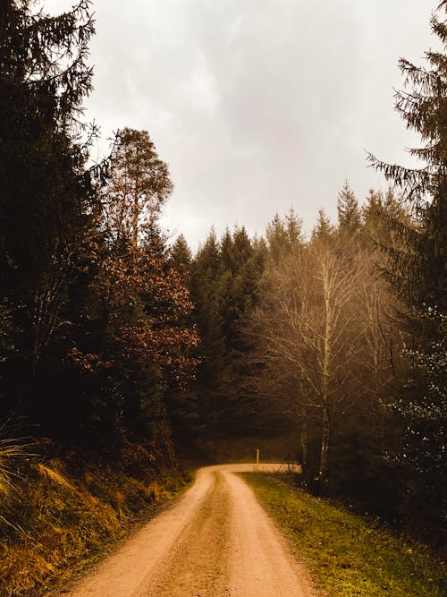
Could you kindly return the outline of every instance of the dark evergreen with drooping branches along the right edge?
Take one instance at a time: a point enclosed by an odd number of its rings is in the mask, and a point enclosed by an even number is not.
[[[401,189],[411,219],[390,220],[399,247],[384,245],[387,277],[408,307],[409,374],[401,399],[394,407],[401,413],[406,434],[401,463],[410,472],[409,509],[413,523],[419,520],[435,536],[443,516],[447,471],[445,468],[446,403],[436,371],[443,368],[440,347],[445,344],[446,229],[447,221],[447,2],[439,4],[431,20],[442,50],[426,52],[428,68],[401,59],[401,72],[409,91],[396,92],[396,109],[424,146],[410,149],[422,162],[418,168],[389,165],[372,155],[376,169]],[[434,314],[436,317],[434,317]],[[434,320],[437,325],[434,325]],[[443,388],[445,389],[445,388]],[[410,457],[409,457],[410,455]],[[440,458],[440,455],[441,458]],[[440,466],[440,462],[442,465]],[[425,505],[422,519],[421,504]]]

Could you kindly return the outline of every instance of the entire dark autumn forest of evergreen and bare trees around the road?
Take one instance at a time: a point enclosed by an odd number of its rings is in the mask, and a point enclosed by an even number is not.
[[[161,225],[173,180],[149,132],[123,125],[92,165],[89,1],[1,3],[4,536],[29,453],[175,465],[283,437],[308,491],[445,549],[446,6],[443,51],[400,62],[416,169],[369,154],[388,190],[347,181],[335,224],[321,209],[305,235],[297,198],[263,235],[211,229],[192,252]]]

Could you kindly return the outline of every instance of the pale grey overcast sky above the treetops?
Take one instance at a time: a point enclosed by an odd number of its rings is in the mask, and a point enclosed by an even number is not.
[[[46,0],[52,13],[72,3]],[[398,59],[435,45],[431,0],[95,0],[87,116],[145,129],[175,184],[164,220],[195,248],[214,224],[262,234],[291,206],[309,229],[385,189],[365,149],[409,164]]]

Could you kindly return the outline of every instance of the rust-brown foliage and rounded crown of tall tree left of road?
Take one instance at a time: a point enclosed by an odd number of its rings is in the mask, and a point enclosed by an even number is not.
[[[167,166],[147,132],[123,129],[111,160],[93,244],[95,273],[90,283],[95,313],[102,322],[105,350],[124,374],[155,364],[165,381],[181,387],[194,374],[190,353],[198,334],[188,324],[190,294],[179,273],[167,265],[158,217],[172,191]],[[72,361],[93,371],[95,354],[72,352]],[[97,358],[97,360],[96,360]]]

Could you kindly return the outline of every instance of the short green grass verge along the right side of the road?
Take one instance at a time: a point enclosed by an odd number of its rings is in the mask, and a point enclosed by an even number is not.
[[[331,597],[443,597],[445,567],[416,543],[374,521],[292,487],[290,475],[243,473],[304,562]]]

